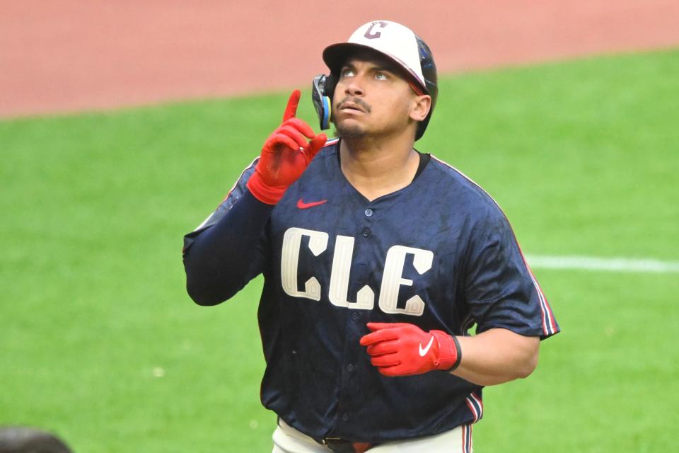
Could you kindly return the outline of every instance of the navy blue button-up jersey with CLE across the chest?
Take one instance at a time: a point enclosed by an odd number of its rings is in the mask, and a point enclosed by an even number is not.
[[[344,177],[338,153],[337,140],[328,142],[275,207],[250,195],[256,161],[248,167],[185,238],[192,297],[218,303],[264,274],[262,403],[311,437],[385,442],[474,423],[480,386],[443,371],[385,377],[359,338],[368,321],[457,336],[473,324],[477,333],[557,333],[506,217],[434,157],[410,185],[370,202]],[[226,270],[204,279],[199,262],[220,253]]]

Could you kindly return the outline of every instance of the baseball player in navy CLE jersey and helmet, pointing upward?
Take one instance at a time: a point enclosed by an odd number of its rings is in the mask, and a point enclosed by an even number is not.
[[[323,59],[317,108],[337,137],[296,118],[294,91],[185,236],[187,291],[219,304],[264,275],[274,452],[470,452],[483,386],[527,377],[559,326],[497,204],[413,148],[438,94],[424,41],[373,21]]]

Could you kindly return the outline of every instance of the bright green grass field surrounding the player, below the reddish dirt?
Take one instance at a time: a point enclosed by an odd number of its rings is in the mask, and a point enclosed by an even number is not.
[[[679,260],[677,74],[673,50],[447,77],[417,147],[486,188],[526,253]],[[271,451],[261,280],[199,307],[180,251],[287,96],[0,122],[0,425],[79,453]],[[564,331],[487,389],[476,451],[672,451],[679,275],[535,273]]]

